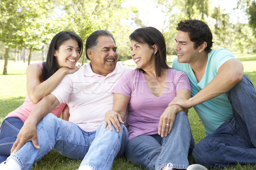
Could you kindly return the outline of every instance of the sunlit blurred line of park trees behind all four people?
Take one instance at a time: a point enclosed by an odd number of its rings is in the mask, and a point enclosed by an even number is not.
[[[140,19],[139,9],[134,6],[125,6],[126,1],[1,0],[0,59],[4,56],[3,74],[7,74],[9,58],[16,59],[17,54],[23,51],[21,56],[24,61],[27,59],[29,64],[32,54],[36,51],[47,51],[52,37],[64,30],[76,32],[84,43],[87,37],[97,29],[111,31],[118,46],[118,60],[130,59],[128,37],[134,31],[134,26],[140,28],[147,24]],[[214,48],[236,49],[241,53],[256,50],[255,0],[235,1],[237,7],[233,10],[244,12],[244,16],[239,17],[235,22],[230,20],[231,14],[225,12],[220,6],[212,5],[211,0],[150,1],[157,3],[157,7],[161,8],[165,17],[163,26],[158,29],[166,38],[167,54],[175,54],[174,39],[177,23],[188,18],[208,23],[215,42]],[[85,52],[79,62],[81,65],[87,62]]]

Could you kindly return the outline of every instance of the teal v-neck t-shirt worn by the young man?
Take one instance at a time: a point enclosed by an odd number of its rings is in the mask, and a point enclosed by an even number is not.
[[[199,83],[188,63],[179,63],[176,57],[173,60],[172,68],[186,73],[191,85],[191,96],[195,96],[217,75],[220,66],[229,59],[235,59],[235,57],[227,49],[217,49],[209,52],[204,76]],[[214,132],[222,123],[233,116],[232,107],[225,93],[196,105],[194,109],[204,124],[206,136]]]

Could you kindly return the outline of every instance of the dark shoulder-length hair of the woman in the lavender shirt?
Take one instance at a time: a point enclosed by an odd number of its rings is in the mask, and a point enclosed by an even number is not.
[[[155,68],[157,76],[161,76],[162,68],[170,68],[166,61],[166,43],[163,34],[154,27],[138,28],[130,35],[130,40],[134,40],[139,43],[147,44],[149,48],[154,44],[157,45],[158,50],[155,57]],[[153,54],[151,55],[150,61],[153,60]],[[142,70],[142,69],[140,69]]]

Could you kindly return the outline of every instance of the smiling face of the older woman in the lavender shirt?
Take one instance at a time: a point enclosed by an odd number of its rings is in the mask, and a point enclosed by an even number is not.
[[[155,51],[156,52],[156,51]],[[131,41],[131,57],[137,65],[137,68],[143,70],[154,67],[154,57],[150,61],[154,49],[150,48],[147,44]]]

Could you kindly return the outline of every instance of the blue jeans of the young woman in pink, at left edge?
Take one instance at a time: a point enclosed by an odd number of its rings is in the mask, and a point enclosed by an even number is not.
[[[3,120],[0,129],[0,163],[6,161],[10,156],[12,145],[16,141],[23,124],[20,118],[15,116]]]

